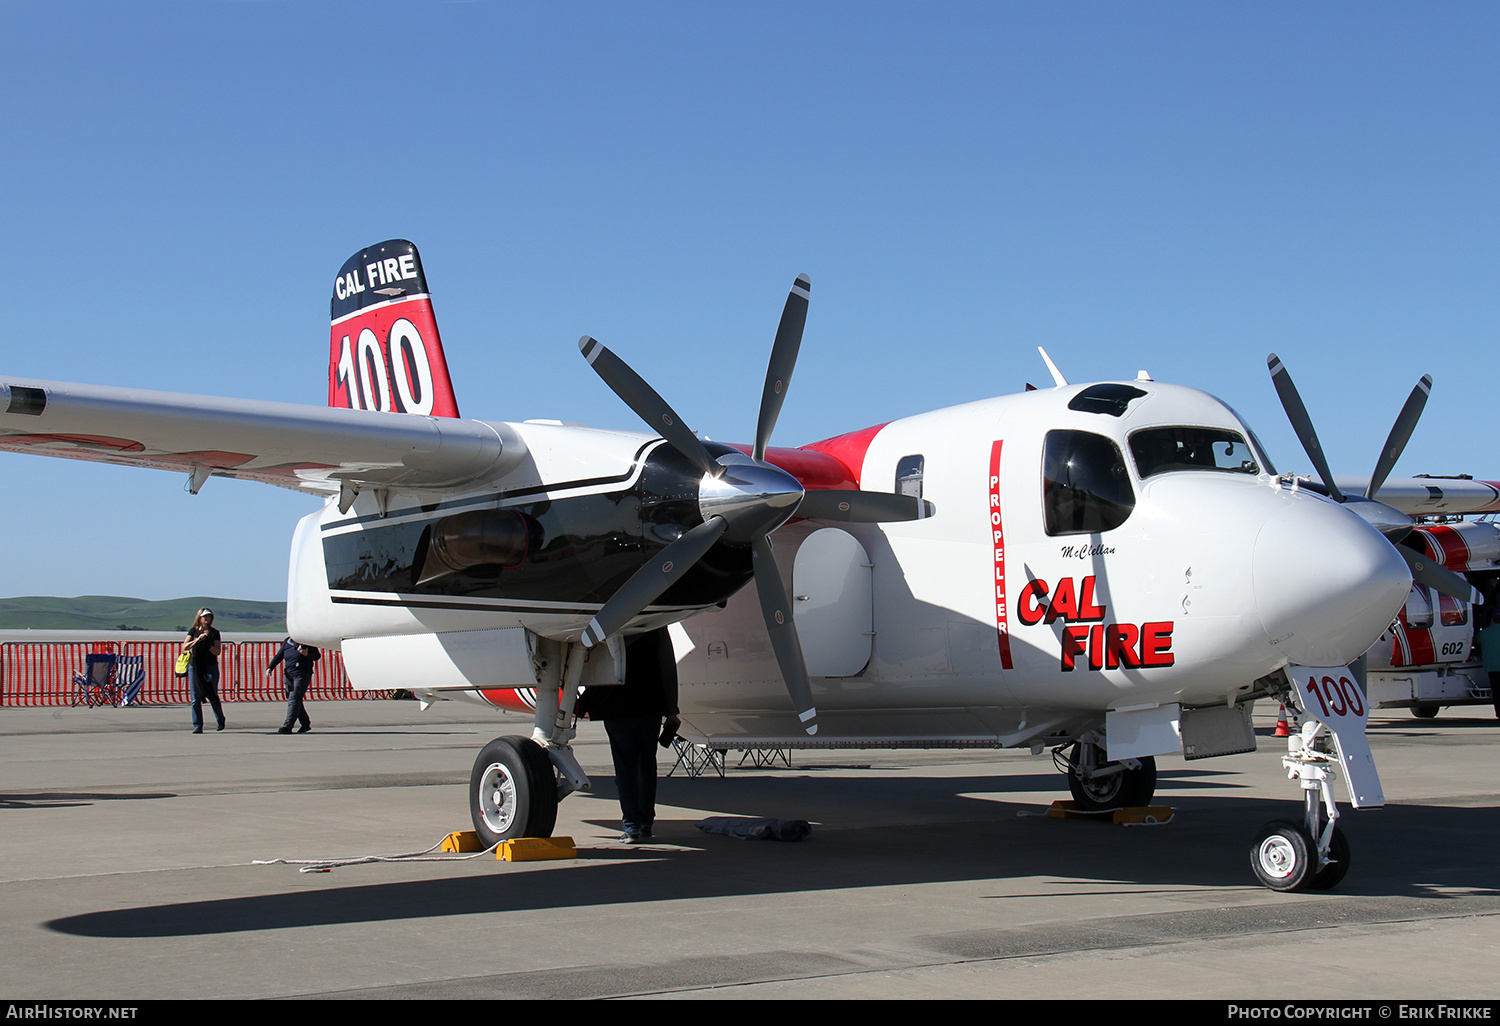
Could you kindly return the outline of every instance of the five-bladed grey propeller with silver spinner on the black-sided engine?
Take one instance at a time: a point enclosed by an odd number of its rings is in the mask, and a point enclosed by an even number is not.
[[[650,562],[630,576],[609,597],[598,615],[584,632],[582,642],[592,648],[621,630],[636,615],[645,610],[675,580],[717,543],[750,546],[754,562],[754,584],[760,596],[760,612],[771,634],[776,662],[792,696],[796,716],[807,734],[818,734],[818,710],[813,705],[807,666],[802,662],[802,645],[792,621],[792,603],[782,584],[782,573],[771,552],[771,532],[786,524],[812,496],[804,496],[795,477],[766,462],[766,447],[776,428],[786,387],[792,381],[796,352],[802,344],[802,327],[807,322],[807,298],[812,282],[798,274],[786,297],[782,321],[771,346],[771,360],[765,372],[765,390],[760,394],[760,416],[756,423],[754,447],[750,456],[729,453],[714,459],[676,411],[632,370],[624,360],[600,342],[584,336],[579,350],[590,366],[604,380],[626,405],[636,411],[652,430],[660,432],[668,442],[692,460],[704,477],[699,482],[699,514],[702,524],[688,528],[676,542],[668,544]],[[818,496],[810,516],[830,520],[912,520],[927,514],[921,500],[879,492],[828,490],[813,492]]]

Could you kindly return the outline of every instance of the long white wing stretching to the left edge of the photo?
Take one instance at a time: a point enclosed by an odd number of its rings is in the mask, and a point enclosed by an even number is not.
[[[0,450],[330,495],[472,484],[525,446],[478,420],[0,376]]]

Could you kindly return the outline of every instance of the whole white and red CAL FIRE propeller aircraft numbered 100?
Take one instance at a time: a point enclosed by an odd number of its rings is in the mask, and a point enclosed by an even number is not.
[[[1430,382],[1366,496],[1329,476],[1275,357],[1322,486],[1278,477],[1203,392],[1074,386],[1050,360],[1052,388],[772,448],[807,297],[798,278],[750,446],[702,441],[591,338],[650,432],[459,418],[420,258],[393,240],[334,279],[328,408],[0,378],[0,448],[327,496],[292,537],[298,640],[342,650],[360,688],[536,690],[532,736],[474,766],[489,842],[550,832],[588,786],[578,688],[670,626],[692,738],[1053,747],[1088,808],[1146,804],[1156,754],[1254,750],[1251,702],[1280,699],[1305,717],[1286,756],[1304,814],[1268,824],[1252,864],[1278,890],[1336,884],[1335,766],[1356,807],[1383,804],[1352,663],[1413,573],[1470,591],[1368,498]]]

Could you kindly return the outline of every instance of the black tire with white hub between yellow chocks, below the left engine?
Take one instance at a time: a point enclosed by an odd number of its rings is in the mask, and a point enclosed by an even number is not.
[[[470,774],[470,818],[486,848],[513,837],[550,837],[558,819],[556,774],[531,738],[495,738]]]

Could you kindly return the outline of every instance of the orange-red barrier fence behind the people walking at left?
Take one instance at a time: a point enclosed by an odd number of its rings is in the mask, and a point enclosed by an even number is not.
[[[224,642],[219,654],[219,698],[225,702],[285,702],[285,675],[274,658],[279,640]],[[0,705],[75,705],[75,674],[84,674],[90,652],[140,657],[144,682],[136,702],[159,705],[188,700],[188,678],[177,676],[178,642],[4,642],[0,644]],[[380,699],[390,692],[356,692],[339,652],[326,651],[312,674],[309,700]]]

